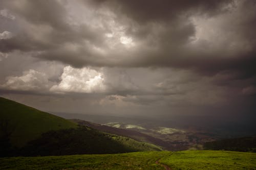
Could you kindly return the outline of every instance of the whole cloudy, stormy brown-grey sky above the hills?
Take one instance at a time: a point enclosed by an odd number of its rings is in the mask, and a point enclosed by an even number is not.
[[[256,1],[0,2],[0,95],[44,111],[255,120]]]

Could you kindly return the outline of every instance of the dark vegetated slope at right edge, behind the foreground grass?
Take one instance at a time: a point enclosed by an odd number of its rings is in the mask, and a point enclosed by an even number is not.
[[[206,150],[256,152],[256,136],[222,139],[204,143]]]

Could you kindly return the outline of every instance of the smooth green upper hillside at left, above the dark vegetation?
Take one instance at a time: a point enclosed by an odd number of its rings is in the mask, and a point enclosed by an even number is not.
[[[10,135],[10,141],[16,147],[24,146],[49,130],[77,127],[67,119],[5,98],[0,98],[0,125],[1,137]]]

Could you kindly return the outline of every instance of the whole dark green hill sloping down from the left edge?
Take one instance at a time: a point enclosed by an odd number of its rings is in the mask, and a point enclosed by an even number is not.
[[[139,142],[77,125],[67,119],[0,98],[0,156],[50,156],[161,151]]]

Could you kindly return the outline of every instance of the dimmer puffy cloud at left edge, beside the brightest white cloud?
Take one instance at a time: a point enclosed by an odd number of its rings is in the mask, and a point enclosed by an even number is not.
[[[20,77],[7,77],[7,82],[1,87],[12,90],[46,90],[50,82],[45,73],[33,69],[24,71]]]

